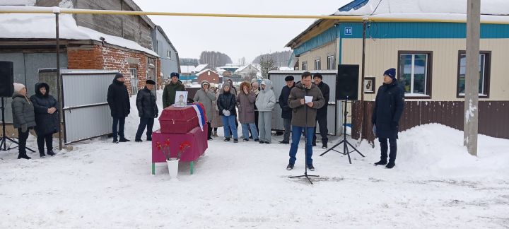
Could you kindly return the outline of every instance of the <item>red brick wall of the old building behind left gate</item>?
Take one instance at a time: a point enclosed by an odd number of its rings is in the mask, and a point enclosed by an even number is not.
[[[146,65],[148,57],[144,53],[128,52],[122,49],[93,45],[89,47],[69,47],[67,49],[69,69],[104,69],[119,71],[125,77],[125,85],[132,95],[130,68],[137,69],[138,85],[141,89],[145,86]],[[138,64],[129,64],[128,59],[138,59]],[[157,61],[156,76],[160,80],[160,59]],[[159,84],[160,87],[160,84]]]

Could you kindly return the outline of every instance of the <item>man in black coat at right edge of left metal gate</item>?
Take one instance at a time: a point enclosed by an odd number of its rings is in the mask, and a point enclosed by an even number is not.
[[[108,87],[107,102],[113,117],[113,143],[130,141],[124,137],[125,117],[131,112],[131,104],[122,74],[115,74],[113,83]],[[117,139],[117,136],[120,136],[120,139]]]

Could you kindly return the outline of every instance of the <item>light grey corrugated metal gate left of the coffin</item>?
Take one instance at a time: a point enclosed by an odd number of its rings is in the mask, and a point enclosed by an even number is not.
[[[65,143],[112,133],[107,88],[116,71],[62,72]]]

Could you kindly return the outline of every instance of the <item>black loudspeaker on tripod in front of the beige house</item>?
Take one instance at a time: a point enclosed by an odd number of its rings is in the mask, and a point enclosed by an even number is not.
[[[357,100],[358,68],[356,64],[339,64],[336,78],[336,100]]]

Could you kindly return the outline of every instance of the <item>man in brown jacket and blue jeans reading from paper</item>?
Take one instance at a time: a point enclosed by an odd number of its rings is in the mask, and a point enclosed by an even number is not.
[[[311,73],[305,71],[300,82],[292,88],[288,97],[288,106],[293,110],[293,115],[290,160],[286,170],[292,170],[295,165],[300,135],[305,130],[306,168],[315,171],[315,167],[312,165],[312,136],[315,134],[317,109],[324,105],[325,100],[322,92],[314,83],[311,83]]]

